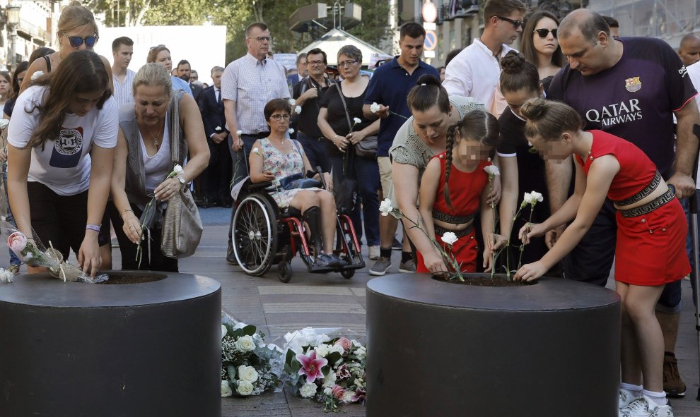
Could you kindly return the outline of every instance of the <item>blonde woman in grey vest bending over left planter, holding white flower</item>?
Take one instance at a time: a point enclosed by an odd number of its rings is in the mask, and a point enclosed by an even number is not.
[[[173,100],[180,103],[179,143],[172,140],[170,129]],[[180,147],[178,163],[184,171],[168,178],[173,171],[173,145]],[[122,270],[177,272],[177,259],[161,253],[163,212],[168,200],[197,178],[208,163],[202,114],[192,95],[173,90],[170,73],[163,66],[142,66],[134,76],[134,101],[119,109],[112,201],[108,205],[122,252]],[[141,230],[140,217],[154,196],[158,203],[149,242]],[[139,241],[144,250],[141,262],[136,260]]]

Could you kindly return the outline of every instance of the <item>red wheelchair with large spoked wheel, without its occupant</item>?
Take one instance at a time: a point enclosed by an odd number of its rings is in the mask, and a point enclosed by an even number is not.
[[[233,214],[233,253],[238,266],[246,274],[260,277],[272,265],[277,265],[277,277],[289,282],[292,277],[291,260],[296,253],[308,272],[325,274],[339,272],[350,279],[355,270],[365,267],[354,226],[348,216],[338,214],[334,253],[346,265],[339,267],[315,266],[313,236],[307,238],[301,212],[293,207],[280,209],[267,188],[272,183],[251,183],[246,180],[238,194]]]

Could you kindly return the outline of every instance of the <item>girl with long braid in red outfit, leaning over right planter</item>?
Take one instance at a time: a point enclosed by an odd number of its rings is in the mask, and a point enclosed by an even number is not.
[[[421,179],[419,212],[421,226],[428,236],[435,236],[445,252],[455,255],[462,272],[477,270],[477,240],[474,237],[474,215],[481,213],[483,236],[494,231],[494,208],[486,204],[489,194],[489,174],[498,140],[498,121],[483,110],[465,114],[464,119],[451,126],[446,151],[434,156]],[[457,241],[451,248],[442,238],[452,232]],[[499,246],[505,238],[498,236]],[[489,246],[489,245],[486,245]],[[484,268],[491,270],[491,250],[484,249]],[[418,253],[417,272],[445,272],[440,251]]]

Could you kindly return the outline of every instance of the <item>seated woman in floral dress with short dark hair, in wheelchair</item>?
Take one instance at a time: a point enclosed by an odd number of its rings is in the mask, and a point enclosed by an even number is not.
[[[301,145],[289,139],[286,133],[291,117],[291,105],[286,99],[272,99],[264,108],[270,127],[267,138],[257,140],[250,152],[250,181],[261,183],[276,181],[298,173],[320,179],[314,174]],[[291,188],[276,186],[270,193],[280,209],[293,207],[302,213],[303,220],[311,232],[317,267],[341,267],[345,261],[333,253],[336,229],[336,207],[333,198],[333,182],[327,172],[323,173],[327,190],[322,188]]]

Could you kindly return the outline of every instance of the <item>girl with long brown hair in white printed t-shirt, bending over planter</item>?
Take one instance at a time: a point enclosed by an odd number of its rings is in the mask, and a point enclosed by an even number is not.
[[[8,128],[7,184],[18,229],[33,236],[34,228],[64,258],[72,248],[93,275],[102,262],[98,235],[117,143],[108,81],[97,54],[74,52],[18,97]]]

